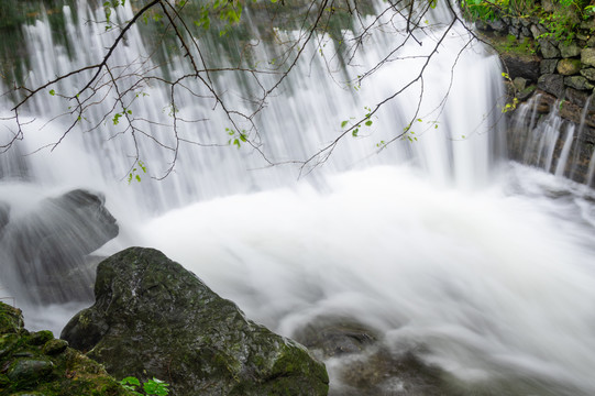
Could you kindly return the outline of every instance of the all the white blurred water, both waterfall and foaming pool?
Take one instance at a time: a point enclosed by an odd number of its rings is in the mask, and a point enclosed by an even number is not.
[[[67,8],[64,12],[74,57],[52,42],[47,22],[24,28],[33,82],[97,62],[113,40],[84,22],[102,16],[86,1],[78,2],[77,20]],[[420,35],[426,45],[407,51],[428,48],[436,37]],[[376,40],[366,43],[357,62],[370,65],[383,56],[392,37]],[[387,348],[423,345],[427,361],[463,381],[520,378],[533,394],[592,395],[595,195],[494,161],[503,136],[497,61],[478,45],[467,48],[451,87],[462,40],[464,33],[452,33],[427,72],[417,141],[375,151],[408,123],[419,97],[419,89],[411,89],[299,179],[296,166],[263,168],[262,157],[246,146],[187,146],[165,180],[142,175],[140,184],[128,184],[132,151],[123,139],[106,140],[118,131],[110,122],[101,127],[104,135],[73,133],[52,152],[21,157],[64,129],[60,120],[48,123],[64,111],[57,108],[62,103],[40,98],[26,114],[24,140],[0,158],[10,176],[0,183],[1,200],[11,206],[12,219],[43,197],[100,190],[121,230],[98,254],[128,245],[159,249],[282,334],[290,337],[317,317],[350,316],[381,331]],[[144,48],[139,31],[131,30],[113,65],[136,62]],[[307,58],[311,62],[295,70],[256,120],[266,154],[278,162],[304,160],[324,146],[343,120],[399,89],[420,62],[392,62],[353,92],[329,78],[321,56],[312,51]],[[183,69],[179,59],[168,67],[174,76]],[[249,82],[218,84],[233,96]],[[443,111],[432,112],[449,89]],[[164,113],[167,120],[167,91],[145,92],[135,113]],[[210,119],[188,131],[199,129],[205,143],[227,141],[228,121],[211,111],[212,101],[197,103],[180,94],[179,105],[184,116]],[[101,111],[89,114],[91,124],[99,123]],[[168,131],[152,128],[155,134]],[[156,176],[170,161],[150,145],[142,146],[142,158]],[[27,327],[54,331],[79,307],[22,306]],[[331,376],[331,388],[335,381]]]

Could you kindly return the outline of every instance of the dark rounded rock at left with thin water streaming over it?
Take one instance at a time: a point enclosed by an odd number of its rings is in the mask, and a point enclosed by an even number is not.
[[[86,257],[119,228],[102,195],[77,189],[42,200],[2,231],[3,286],[21,300],[48,304],[92,301],[95,268]]]

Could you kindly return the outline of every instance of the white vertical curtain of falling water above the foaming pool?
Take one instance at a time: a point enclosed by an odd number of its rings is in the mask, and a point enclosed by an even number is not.
[[[24,26],[31,65],[24,74],[31,86],[42,85],[54,76],[97,63],[117,35],[117,32],[102,31],[99,24],[86,22],[103,18],[102,10],[92,10],[86,1],[77,2],[76,12],[64,7],[63,13],[68,32],[66,46],[52,41],[51,26],[46,20]],[[132,10],[130,6],[126,6],[125,13],[120,18],[128,20],[131,16]],[[250,18],[250,14],[246,18]],[[427,23],[433,22],[427,21]],[[366,112],[365,108],[374,107],[415,78],[415,73],[423,64],[420,59],[416,59],[416,56],[423,54],[423,52],[420,53],[425,48],[421,44],[423,41],[426,41],[426,47],[434,44],[439,32],[437,29],[436,33],[420,35],[418,38],[420,45],[415,42],[408,45],[404,55],[399,55],[403,57],[400,62],[397,62],[397,58],[389,58],[390,62],[367,78],[359,90],[341,82],[348,80],[341,74],[355,74],[373,67],[386,57],[383,48],[390,47],[389,41],[395,37],[381,33],[371,36],[366,40],[363,54],[352,59],[352,63],[359,66],[354,67],[354,70],[341,72],[338,62],[331,58],[335,52],[332,40],[321,35],[318,40],[324,42],[321,46],[324,50],[306,48],[302,58],[310,61],[296,66],[296,70],[284,81],[278,94],[267,99],[265,111],[254,120],[258,130],[258,136],[254,139],[263,142],[262,151],[266,158],[273,163],[283,164],[307,161],[315,155],[341,133],[344,120],[349,121],[349,125],[350,120],[355,120]],[[497,73],[498,65],[494,57],[484,54],[480,45],[475,45],[471,51],[465,51],[459,56],[462,45],[465,45],[470,37],[464,35],[463,30],[455,32],[461,37],[448,37],[444,41],[441,46],[444,51],[440,51],[437,54],[440,57],[428,66],[428,77],[423,85],[418,84],[412,89],[406,90],[403,99],[386,103],[382,111],[374,116],[371,128],[362,128],[357,138],[343,139],[321,166],[322,170],[317,169],[310,173],[309,178],[316,179],[322,173],[371,164],[414,162],[442,184],[454,182],[471,187],[485,183],[494,157],[502,153],[502,147],[495,148],[496,144],[494,144],[502,136],[498,103],[494,101],[494,98],[502,97],[503,91],[500,84],[491,77]],[[294,38],[299,42],[299,38],[293,36],[295,35],[293,32],[278,32],[278,34],[279,40]],[[287,37],[284,38],[283,35]],[[235,37],[229,37],[225,41],[229,41],[227,43],[229,47],[242,45]],[[224,51],[220,43],[208,41],[202,43],[201,41],[201,45],[205,45],[205,52],[209,56]],[[155,61],[148,58],[152,51],[152,46],[144,44],[142,32],[136,26],[132,28],[126,33],[125,45],[113,54],[110,66],[114,73],[122,75],[128,73],[128,68],[148,70],[146,73],[155,78],[166,78],[166,76],[176,78],[187,73],[184,58],[175,55],[167,65],[156,68]],[[274,46],[258,45],[255,46],[251,56],[258,62],[272,62],[271,59],[276,56],[274,51]],[[456,68],[452,72],[451,81],[451,67],[454,64]],[[123,65],[130,66],[123,68]],[[329,68],[331,72],[332,69],[338,72],[329,73]],[[74,92],[84,86],[90,75],[91,73],[85,73],[59,81],[53,87],[53,92],[64,92],[64,95]],[[353,79],[354,76],[348,77]],[[222,95],[227,98],[234,96],[245,98],[246,91],[258,89],[253,80],[240,74],[223,75],[221,78],[216,75],[213,78],[217,80],[216,86],[224,86]],[[464,78],[473,78],[477,82],[469,87],[461,84]],[[121,90],[128,87],[129,79],[131,78],[123,78]],[[266,78],[263,81],[263,84],[272,84]],[[152,139],[157,139],[164,144],[174,144],[170,109],[168,109],[172,100],[166,86],[152,82],[141,87],[142,89],[131,91],[131,96],[134,94],[139,97],[130,100],[129,109],[136,120],[155,120],[153,123],[142,125],[143,131],[153,138],[143,140],[142,134],[137,133],[139,138],[135,138],[136,142],[134,142],[130,139],[130,130],[129,135],[120,135],[129,124],[123,117],[117,120],[118,124],[114,124],[115,121],[112,120],[115,112],[113,111],[114,102],[110,100],[114,94],[106,91],[106,99],[90,109],[85,121],[79,122],[73,133],[65,136],[64,145],[60,143],[51,154],[42,153],[25,157],[24,161],[31,163],[29,167],[35,168],[31,173],[36,175],[35,177],[41,183],[55,185],[57,180],[60,184],[73,180],[74,185],[79,185],[85,178],[100,179],[101,183],[111,186],[109,188],[101,186],[99,189],[114,188],[119,190],[119,195],[121,190],[126,190],[124,195],[133,195],[139,205],[157,211],[197,199],[287,185],[287,180],[293,182],[300,174],[310,170],[310,168],[300,168],[299,164],[268,166],[263,156],[250,145],[244,144],[239,150],[229,146],[228,129],[232,128],[230,120],[214,106],[212,96],[205,92],[205,88],[198,80],[188,81],[187,85],[188,90],[180,89],[176,96],[176,111],[180,119],[197,120],[197,122],[178,125],[179,134],[203,146],[183,144],[179,153],[174,157],[170,151],[155,144]],[[387,146],[386,155],[384,153],[377,155],[378,147],[382,147],[384,142],[399,135],[407,128],[408,117],[415,113],[421,91],[425,101],[419,111],[420,121],[416,121],[410,127],[408,134],[417,141],[397,142]],[[64,130],[76,114],[62,116],[53,121],[49,119],[53,116],[44,116],[64,114],[67,106],[73,105],[57,96],[44,92],[37,96],[27,108],[30,120],[26,122],[31,121],[31,123],[24,125],[24,139],[16,142],[16,150],[29,154],[43,147],[43,152],[48,152],[47,145],[60,140]],[[201,96],[206,99],[201,99]],[[240,111],[244,109],[246,113],[250,112],[242,99],[235,102],[230,99],[230,102]],[[463,114],[465,117],[460,117]],[[90,130],[96,125],[98,125],[97,129]],[[4,140],[12,138],[15,133],[14,127],[9,128],[10,132],[4,132]],[[417,135],[411,133],[417,133]],[[235,139],[235,136],[232,138]],[[139,148],[139,154],[136,154],[136,148]],[[81,157],[70,160],[73,151],[81,152]],[[45,155],[51,156],[54,163],[49,172],[44,165],[45,160],[35,158]],[[134,175],[144,176],[143,182],[133,188],[122,186],[125,183],[120,183],[120,180],[125,180],[133,172],[131,167],[134,166],[136,155],[146,164],[148,174],[143,174],[139,166],[135,166]],[[164,180],[157,182],[148,177],[163,176],[174,161],[174,172]],[[77,164],[78,162],[80,164]],[[74,168],[85,168],[85,172],[73,172]],[[251,170],[246,172],[246,169]],[[133,193],[130,193],[131,190]],[[109,191],[107,193],[109,195]]]

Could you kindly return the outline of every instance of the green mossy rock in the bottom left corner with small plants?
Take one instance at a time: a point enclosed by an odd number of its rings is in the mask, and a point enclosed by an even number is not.
[[[104,369],[56,340],[30,332],[21,310],[0,302],[0,396],[131,396]]]

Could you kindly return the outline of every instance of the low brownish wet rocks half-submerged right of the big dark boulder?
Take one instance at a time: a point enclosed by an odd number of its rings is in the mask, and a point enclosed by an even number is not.
[[[339,380],[329,395],[455,396],[452,378],[412,351],[390,351],[381,332],[351,318],[319,318],[293,336],[328,362]]]

